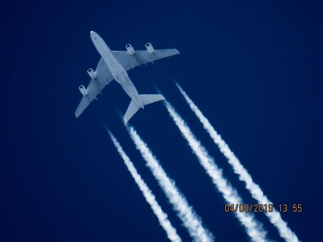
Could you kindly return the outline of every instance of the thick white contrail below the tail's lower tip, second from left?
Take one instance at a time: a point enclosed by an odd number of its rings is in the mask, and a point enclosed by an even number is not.
[[[179,192],[174,180],[172,180],[163,167],[160,166],[158,160],[151,153],[144,141],[141,140],[134,128],[128,127],[128,132],[146,161],[147,166],[158,181],[160,188],[163,189],[169,202],[173,205],[173,209],[177,212],[178,217],[182,220],[183,225],[186,227],[193,240],[201,242],[213,241],[213,235],[203,227],[201,219],[188,204],[184,195]]]

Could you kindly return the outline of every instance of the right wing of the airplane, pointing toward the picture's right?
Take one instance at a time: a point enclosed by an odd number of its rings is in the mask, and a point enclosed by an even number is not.
[[[111,52],[126,71],[142,64],[180,53],[177,49],[155,49],[153,53],[148,50],[135,50],[133,54],[128,53],[128,51]]]

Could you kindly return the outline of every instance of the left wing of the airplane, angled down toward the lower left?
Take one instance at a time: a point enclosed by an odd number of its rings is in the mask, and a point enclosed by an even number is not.
[[[96,78],[92,79],[87,87],[88,94],[82,97],[79,106],[76,108],[76,117],[79,117],[94,98],[96,99],[97,94],[99,94],[101,90],[114,79],[102,58],[97,64],[95,74]]]

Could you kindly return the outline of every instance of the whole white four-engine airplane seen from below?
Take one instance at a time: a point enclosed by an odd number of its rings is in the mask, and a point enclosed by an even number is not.
[[[180,52],[177,49],[154,49],[150,43],[146,43],[147,50],[134,50],[131,44],[127,44],[127,51],[112,51],[97,33],[91,31],[90,36],[101,58],[95,72],[91,68],[87,70],[88,75],[91,77],[88,87],[85,88],[83,85],[79,87],[83,97],[75,111],[76,118],[96,99],[99,93],[101,94],[101,90],[113,80],[116,80],[131,98],[129,107],[124,115],[126,124],[139,108],[144,108],[147,104],[165,99],[159,94],[139,95],[127,71],[142,64],[153,63],[157,59],[179,54]]]

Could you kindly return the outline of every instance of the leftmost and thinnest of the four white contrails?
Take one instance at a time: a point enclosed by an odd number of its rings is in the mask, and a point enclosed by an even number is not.
[[[138,185],[140,191],[142,192],[143,196],[145,197],[147,203],[150,205],[153,213],[158,218],[159,224],[167,233],[168,238],[174,242],[181,242],[182,239],[178,236],[176,229],[172,226],[170,220],[167,218],[167,214],[161,210],[159,204],[157,203],[155,196],[152,194],[150,189],[147,187],[146,183],[143,181],[141,176],[138,174],[136,168],[134,167],[133,163],[130,161],[129,157],[123,151],[121,145],[114,137],[114,135],[108,130],[109,135],[111,137],[112,142],[116,146],[120,156],[125,162],[128,170],[130,171],[132,177],[135,179],[136,184]]]

